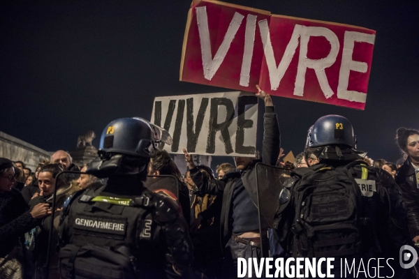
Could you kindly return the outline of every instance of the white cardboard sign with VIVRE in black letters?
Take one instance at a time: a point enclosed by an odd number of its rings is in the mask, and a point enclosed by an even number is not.
[[[241,91],[156,97],[151,122],[172,135],[168,153],[253,157],[258,98]]]

